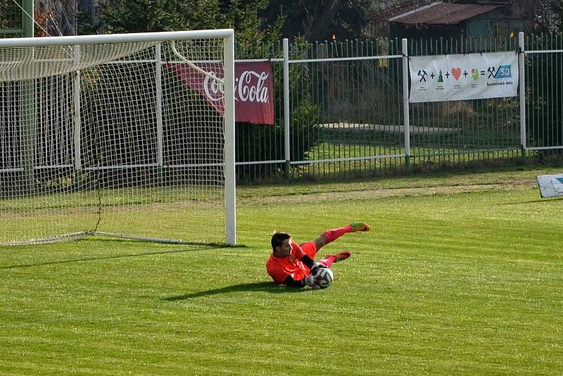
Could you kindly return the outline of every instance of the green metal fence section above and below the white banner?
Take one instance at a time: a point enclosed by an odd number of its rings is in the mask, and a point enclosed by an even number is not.
[[[517,51],[517,37],[410,41],[410,56]],[[518,158],[518,97],[411,104],[413,165],[431,168]]]

